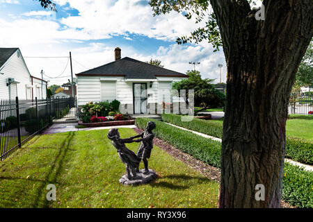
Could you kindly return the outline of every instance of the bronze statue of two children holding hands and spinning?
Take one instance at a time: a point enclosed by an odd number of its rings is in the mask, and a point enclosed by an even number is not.
[[[118,132],[117,128],[111,129],[107,135],[107,137],[112,141],[113,146],[117,149],[120,160],[126,164],[127,178],[129,180],[136,179],[136,173],[139,172],[139,164],[141,163],[141,160],[143,160],[143,164],[145,165],[145,171],[143,171],[143,173],[149,173],[147,159],[150,158],[153,148],[152,141],[154,138],[154,133],[152,133],[152,130],[154,130],[155,127],[155,123],[149,121],[143,133],[134,137],[129,137],[127,139],[120,138],[120,133]],[[141,138],[136,139],[139,137]],[[125,144],[132,142],[141,142],[137,151],[137,155],[125,146]]]

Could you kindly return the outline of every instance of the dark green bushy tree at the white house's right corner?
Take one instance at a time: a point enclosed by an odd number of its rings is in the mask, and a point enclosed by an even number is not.
[[[218,108],[225,105],[225,94],[218,91],[211,79],[202,79],[200,71],[187,71],[189,78],[181,80],[176,83],[172,83],[172,89],[177,89],[178,92],[182,89],[186,89],[186,98],[188,98],[188,89],[194,89],[194,104],[202,109],[195,110],[200,112],[207,110],[208,108]],[[188,101],[186,101],[188,103]]]

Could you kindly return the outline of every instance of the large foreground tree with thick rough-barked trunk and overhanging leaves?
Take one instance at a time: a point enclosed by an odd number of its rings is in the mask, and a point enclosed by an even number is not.
[[[280,207],[285,125],[296,72],[313,35],[312,0],[264,0],[265,20],[248,0],[151,0],[154,15],[184,12],[205,27],[178,43],[223,44],[227,96],[219,207]],[[209,6],[213,12],[209,13]],[[258,185],[264,200],[256,200]]]

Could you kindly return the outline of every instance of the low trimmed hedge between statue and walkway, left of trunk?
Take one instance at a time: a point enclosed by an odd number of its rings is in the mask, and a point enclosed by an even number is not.
[[[154,134],[181,151],[192,155],[214,167],[220,167],[220,142],[204,138],[161,121],[147,118],[136,118],[136,126],[144,129],[148,121],[154,121],[157,128]]]

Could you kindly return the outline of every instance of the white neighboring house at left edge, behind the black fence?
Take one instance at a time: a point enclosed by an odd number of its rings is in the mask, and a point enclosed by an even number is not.
[[[18,48],[0,48],[0,99],[45,99],[47,81],[31,76]]]

